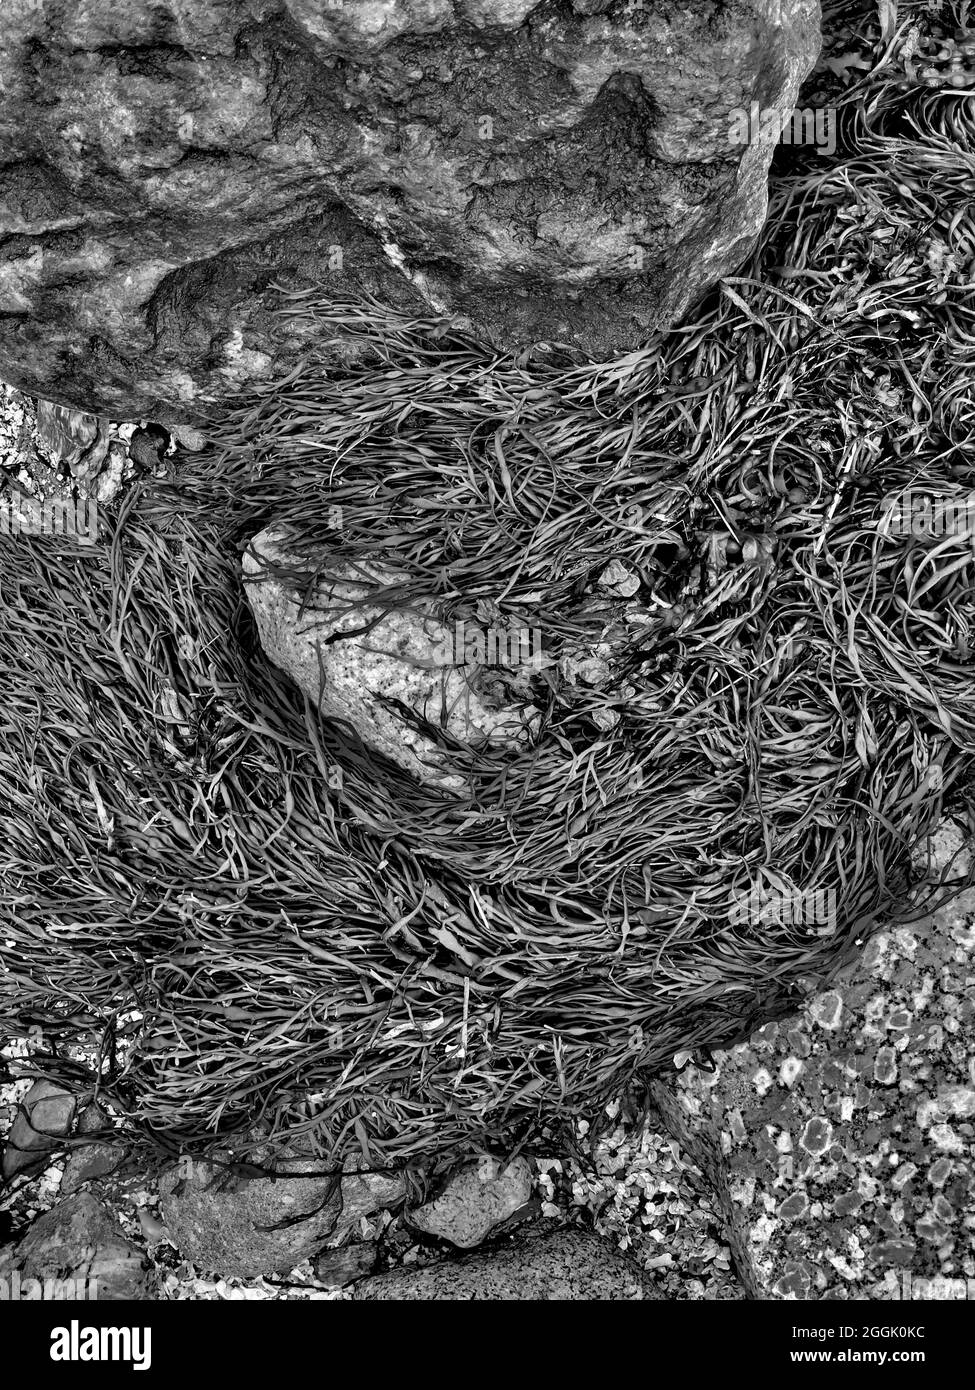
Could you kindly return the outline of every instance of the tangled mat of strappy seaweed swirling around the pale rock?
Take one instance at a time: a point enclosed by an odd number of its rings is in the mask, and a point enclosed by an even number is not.
[[[645,352],[490,357],[309,292],[282,313],[357,325],[369,367],[242,402],[95,548],[0,539],[0,1024],[39,1074],[90,1087],[95,1041],[170,1151],[510,1150],[794,1006],[908,902],[971,785],[975,575],[885,499],[975,482],[971,131],[925,88],[862,97]],[[537,745],[446,746],[460,801],[321,720],[241,596],[270,521],[309,594],[323,553],[384,557],[412,577],[385,602],[541,627]],[[573,684],[612,559],[647,616]],[[741,913],[776,894],[835,913]]]

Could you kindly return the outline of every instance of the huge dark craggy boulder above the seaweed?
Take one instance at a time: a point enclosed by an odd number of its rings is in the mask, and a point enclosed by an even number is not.
[[[348,354],[331,325],[277,318],[275,285],[503,346],[631,349],[748,254],[775,132],[734,145],[732,113],[794,106],[818,18],[816,0],[6,6],[0,377],[192,423],[310,343]]]

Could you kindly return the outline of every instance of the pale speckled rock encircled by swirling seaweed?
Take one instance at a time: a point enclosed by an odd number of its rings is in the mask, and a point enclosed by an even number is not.
[[[292,562],[293,563],[293,562]],[[459,771],[421,728],[406,723],[391,698],[465,744],[512,748],[530,737],[526,717],[509,708],[490,708],[453,659],[453,634],[420,612],[378,606],[350,609],[369,589],[353,571],[337,566],[334,577],[319,582],[314,609],[300,612],[300,594],[284,575],[268,570],[287,566],[288,552],[274,531],[261,531],[243,555],[248,599],[260,641],[270,659],[331,719],[346,720],[371,748],[385,753],[420,781],[444,791],[462,791]],[[377,566],[373,580],[402,580]],[[363,632],[366,624],[367,632]],[[331,641],[337,632],[346,638]],[[531,719],[529,710],[529,719]]]

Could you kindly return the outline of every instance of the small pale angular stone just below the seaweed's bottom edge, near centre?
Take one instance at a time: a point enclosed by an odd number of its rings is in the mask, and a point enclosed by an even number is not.
[[[483,1158],[465,1163],[438,1197],[410,1212],[410,1225],[427,1236],[470,1250],[526,1207],[531,1191],[531,1168],[523,1158],[506,1166]]]

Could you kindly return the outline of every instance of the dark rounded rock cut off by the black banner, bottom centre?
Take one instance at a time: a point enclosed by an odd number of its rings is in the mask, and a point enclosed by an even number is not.
[[[594,1232],[533,1230],[497,1250],[367,1279],[360,1300],[602,1301],[658,1298],[629,1255]]]

